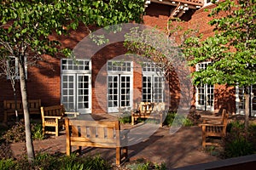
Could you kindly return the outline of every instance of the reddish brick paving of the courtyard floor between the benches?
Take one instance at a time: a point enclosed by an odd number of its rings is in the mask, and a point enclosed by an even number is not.
[[[65,154],[65,131],[61,131],[59,137],[52,136],[42,141],[34,141],[33,144],[36,152]],[[25,153],[25,144],[11,144],[10,149],[13,155],[18,157]],[[115,159],[115,150],[113,149],[90,148],[84,149],[83,154],[100,154],[108,161],[113,162]],[[174,134],[170,134],[169,127],[160,127],[148,139],[130,145],[128,155],[131,161],[144,158],[154,163],[165,162],[168,169],[218,160],[217,157],[210,156],[201,150],[201,128],[197,126],[182,127]]]

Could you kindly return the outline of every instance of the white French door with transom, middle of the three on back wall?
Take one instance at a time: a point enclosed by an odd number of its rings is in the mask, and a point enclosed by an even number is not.
[[[132,61],[108,60],[108,112],[129,111],[132,108]]]

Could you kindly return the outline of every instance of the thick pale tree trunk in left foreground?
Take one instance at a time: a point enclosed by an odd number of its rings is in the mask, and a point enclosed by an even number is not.
[[[28,111],[28,102],[27,102],[27,94],[26,94],[26,75],[25,75],[25,65],[24,58],[19,60],[19,71],[20,71],[20,92],[21,99],[24,111],[24,120],[25,120],[25,132],[26,132],[26,153],[28,162],[32,163],[34,161],[34,147],[32,144],[32,133],[31,133],[31,125]]]

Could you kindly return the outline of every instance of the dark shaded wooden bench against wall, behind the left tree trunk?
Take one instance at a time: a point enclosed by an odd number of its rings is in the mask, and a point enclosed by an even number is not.
[[[23,114],[23,105],[21,100],[17,100],[17,113]],[[29,99],[28,109],[30,114],[40,114],[41,99]],[[8,121],[9,116],[15,115],[15,100],[3,100],[3,122]]]

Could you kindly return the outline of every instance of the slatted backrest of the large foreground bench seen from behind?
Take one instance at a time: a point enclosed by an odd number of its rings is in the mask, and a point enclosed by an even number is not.
[[[71,143],[80,146],[119,146],[119,121],[87,121],[66,119],[66,133]],[[70,132],[72,129],[72,133]]]

